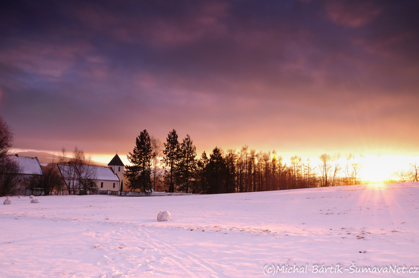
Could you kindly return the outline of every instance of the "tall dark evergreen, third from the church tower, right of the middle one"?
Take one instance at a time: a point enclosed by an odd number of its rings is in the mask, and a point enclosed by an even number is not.
[[[179,189],[190,193],[192,180],[195,180],[196,172],[196,147],[193,145],[189,134],[183,139],[178,152],[177,181]]]

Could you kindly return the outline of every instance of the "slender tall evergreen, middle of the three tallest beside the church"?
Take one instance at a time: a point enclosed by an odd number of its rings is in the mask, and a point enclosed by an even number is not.
[[[166,166],[166,183],[169,185],[169,192],[174,192],[174,182],[176,175],[176,166],[178,162],[179,142],[177,141],[176,130],[171,130],[167,135],[166,143],[164,143],[165,149],[163,154],[163,163]]]

